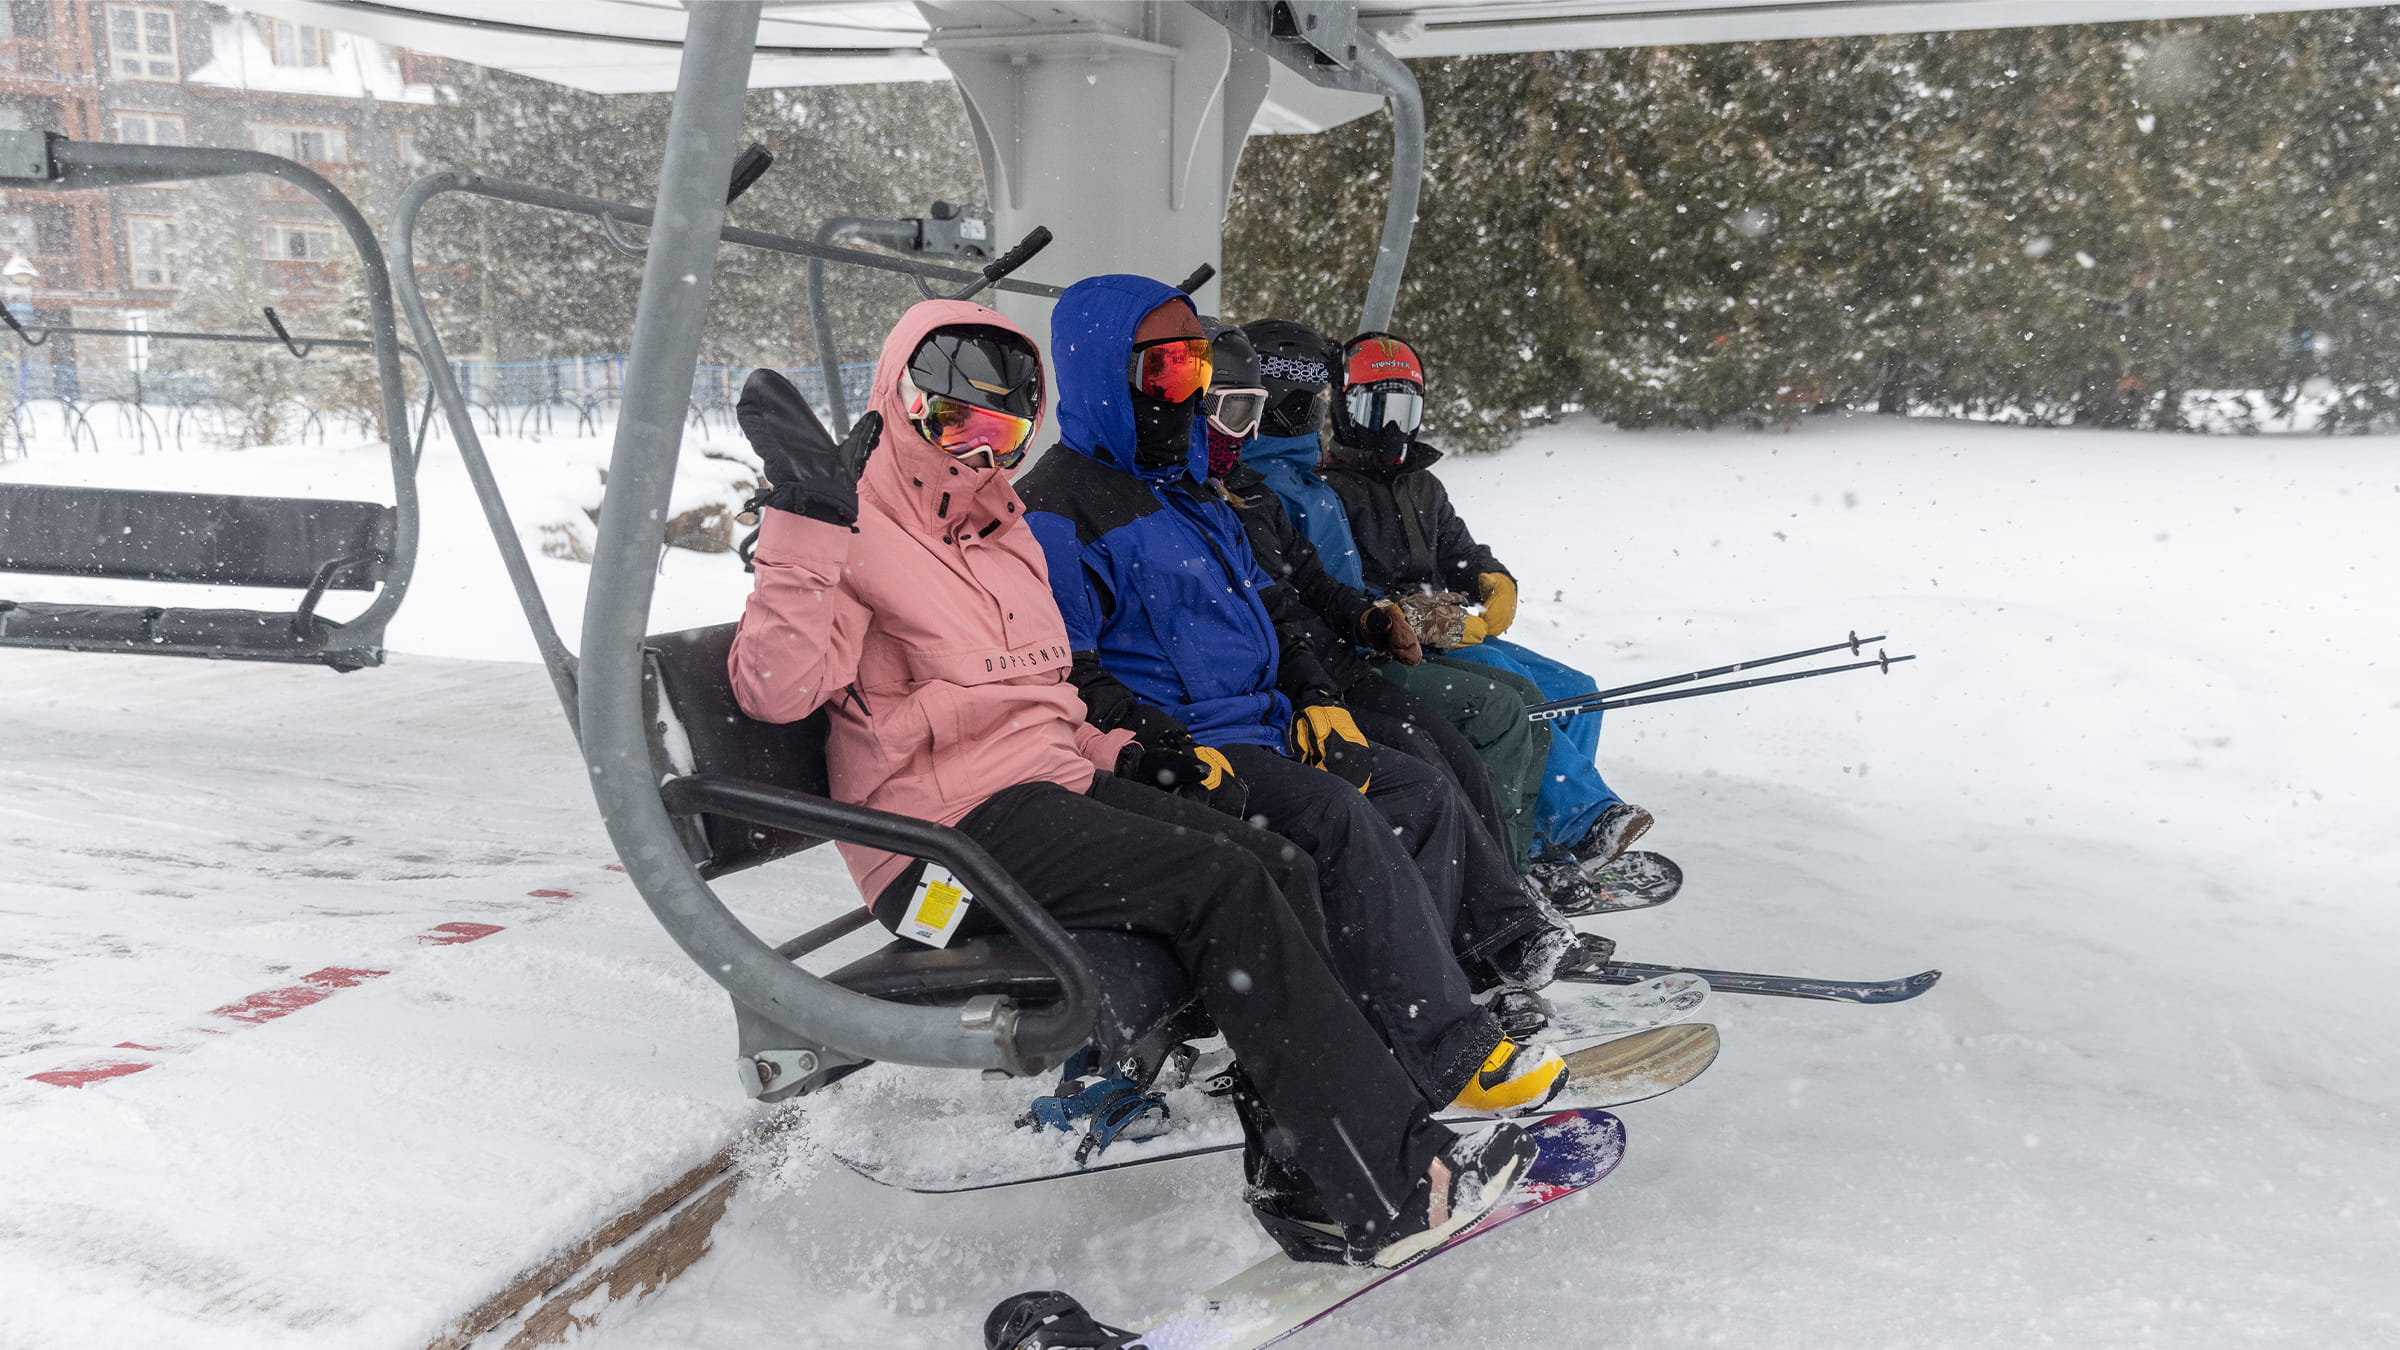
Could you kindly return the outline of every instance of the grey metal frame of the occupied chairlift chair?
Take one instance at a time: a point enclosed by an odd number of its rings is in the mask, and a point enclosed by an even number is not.
[[[1315,19],[1291,31],[1277,17],[1294,10],[1332,19],[1325,41],[1339,41],[1346,60],[1301,36]],[[718,0],[686,10],[682,62],[667,144],[658,178],[658,204],[631,207],[526,183],[502,183],[463,173],[434,173],[403,192],[394,211],[394,252],[401,259],[396,293],[427,377],[485,516],[499,540],[518,601],[550,665],[559,701],[583,747],[593,795],[626,877],[674,942],[734,999],[744,1074],[754,1095],[780,1098],[828,1081],[838,1062],[886,1059],[895,1064],[1030,1074],[1080,1047],[1094,1023],[1097,978],[1087,956],[1018,884],[967,836],[929,822],[871,812],[818,795],[710,776],[660,773],[650,747],[646,706],[646,627],[658,577],[658,521],[667,516],[674,464],[682,449],[691,377],[698,365],[701,329],[715,283],[715,255],[739,243],[806,259],[847,262],[912,276],[934,295],[929,279],[977,281],[974,271],[835,247],[790,235],[742,231],[725,223],[727,202],[739,195],[737,168],[742,103],[749,91],[751,53],[758,38],[761,0]],[[1406,264],[1423,175],[1423,106],[1409,70],[1370,34],[1356,26],[1356,7],[1298,5],[1202,5],[1234,34],[1262,46],[1306,79],[1327,86],[1382,94],[1394,108],[1394,183],[1385,211],[1382,247],[1368,286],[1363,327],[1387,327]],[[732,190],[730,190],[732,183]],[[600,507],[598,545],[586,589],[581,658],[557,637],[547,605],[533,584],[516,528],[509,524],[480,440],[468,420],[439,336],[415,286],[415,223],[425,202],[444,192],[468,192],[581,214],[600,223],[610,247],[643,264],[634,312],[634,344],[624,370],[617,437],[610,454],[607,497]],[[626,235],[646,226],[648,243]],[[1056,288],[1001,281],[1003,288],[1056,295]],[[1056,978],[1061,999],[1020,1011],[1008,999],[982,994],[965,1006],[910,1006],[850,992],[794,958],[847,932],[866,927],[864,908],[852,910],[782,946],[768,946],[710,891],[698,862],[684,848],[674,814],[713,812],[756,826],[811,838],[840,838],[926,858],[955,872],[970,891]],[[792,1045],[778,1050],[775,1045]],[[761,1091],[766,1088],[766,1091]]]

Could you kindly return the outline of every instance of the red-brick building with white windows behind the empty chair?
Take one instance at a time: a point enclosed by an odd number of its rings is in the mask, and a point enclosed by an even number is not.
[[[437,74],[437,58],[223,5],[0,0],[0,127],[281,154],[331,178],[370,221],[418,173],[413,135]],[[269,293],[307,315],[348,240],[305,192],[240,185]],[[182,281],[187,195],[0,192],[0,300],[29,324],[158,327]],[[139,353],[62,334],[43,358],[122,368]]]

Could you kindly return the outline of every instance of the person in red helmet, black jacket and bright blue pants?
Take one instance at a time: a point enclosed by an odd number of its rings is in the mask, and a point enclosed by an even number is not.
[[[1392,334],[1358,334],[1334,363],[1334,449],[1325,480],[1342,497],[1366,589],[1457,591],[1481,601],[1466,617],[1464,644],[1450,656],[1524,675],[1546,699],[1591,694],[1598,682],[1529,646],[1502,639],[1517,617],[1517,577],[1476,540],[1430,473],[1442,452],[1416,440],[1426,411],[1418,353]],[[1620,798],[1596,764],[1601,713],[1555,723],[1536,848],[1598,870],[1651,826],[1651,814]]]

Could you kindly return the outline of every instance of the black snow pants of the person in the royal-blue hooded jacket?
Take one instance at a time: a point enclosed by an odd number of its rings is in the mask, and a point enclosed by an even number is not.
[[[1474,958],[1548,920],[1502,860],[1469,867],[1474,822],[1440,771],[1378,747],[1361,795],[1262,745],[1219,749],[1250,785],[1250,817],[1318,860],[1334,970],[1426,1098],[1447,1105],[1500,1045],[1454,934]]]

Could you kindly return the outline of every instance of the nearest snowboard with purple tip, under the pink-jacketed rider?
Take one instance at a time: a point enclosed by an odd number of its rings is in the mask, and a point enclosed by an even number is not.
[[[1625,1122],[1603,1110],[1567,1110],[1526,1127],[1541,1153],[1517,1189],[1481,1223],[1406,1266],[1332,1266],[1267,1256],[1248,1271],[1188,1297],[1164,1316],[1147,1319],[1126,1350],[1262,1350],[1332,1316],[1342,1304],[1457,1252],[1502,1223],[1514,1223],[1558,1203],[1615,1170],[1625,1160]]]

